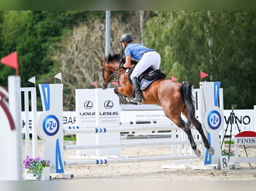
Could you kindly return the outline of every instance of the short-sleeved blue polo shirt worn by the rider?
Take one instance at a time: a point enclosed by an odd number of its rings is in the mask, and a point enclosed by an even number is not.
[[[130,54],[133,59],[141,60],[143,53],[146,51],[154,51],[154,50],[149,49],[141,44],[130,43],[125,48],[125,56],[128,56]]]

